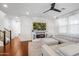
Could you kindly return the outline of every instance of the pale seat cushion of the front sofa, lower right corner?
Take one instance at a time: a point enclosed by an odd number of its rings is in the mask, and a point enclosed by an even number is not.
[[[79,43],[60,47],[58,50],[66,56],[74,56],[79,54]]]

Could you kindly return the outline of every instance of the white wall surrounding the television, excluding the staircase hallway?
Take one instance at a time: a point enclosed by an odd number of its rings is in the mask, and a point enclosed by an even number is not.
[[[53,20],[38,17],[20,17],[21,19],[21,39],[22,41],[32,39],[32,23],[45,22],[47,24],[47,32],[54,34]]]

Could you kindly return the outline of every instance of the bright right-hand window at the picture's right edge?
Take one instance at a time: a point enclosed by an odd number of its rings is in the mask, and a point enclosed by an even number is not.
[[[68,31],[71,34],[79,34],[79,14],[69,17]]]

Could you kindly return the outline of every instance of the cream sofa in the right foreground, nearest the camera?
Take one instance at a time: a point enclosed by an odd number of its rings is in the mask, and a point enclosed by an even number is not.
[[[79,56],[79,43],[64,43],[60,45],[43,45],[43,56]]]

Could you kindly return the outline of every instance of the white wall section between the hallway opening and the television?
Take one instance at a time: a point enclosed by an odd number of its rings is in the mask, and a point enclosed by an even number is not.
[[[32,30],[32,22],[30,18],[21,17],[21,39],[22,41],[26,41],[27,39],[31,39],[31,30]]]

